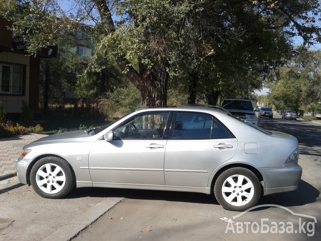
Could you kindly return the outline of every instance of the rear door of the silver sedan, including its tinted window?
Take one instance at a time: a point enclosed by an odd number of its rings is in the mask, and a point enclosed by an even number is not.
[[[166,146],[166,185],[207,187],[214,169],[234,156],[238,141],[214,116],[174,112]]]

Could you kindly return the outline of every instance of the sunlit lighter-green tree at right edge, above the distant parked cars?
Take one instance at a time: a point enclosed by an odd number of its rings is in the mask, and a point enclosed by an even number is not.
[[[321,50],[296,49],[295,56],[276,71],[278,78],[268,87],[278,110],[321,111]]]

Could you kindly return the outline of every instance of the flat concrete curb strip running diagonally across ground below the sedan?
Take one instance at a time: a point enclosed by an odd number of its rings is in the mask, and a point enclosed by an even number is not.
[[[74,218],[56,232],[50,234],[42,241],[70,241],[76,237],[81,231],[99,219],[102,215],[108,212],[118,202],[125,198],[108,198],[97,203],[82,215]]]

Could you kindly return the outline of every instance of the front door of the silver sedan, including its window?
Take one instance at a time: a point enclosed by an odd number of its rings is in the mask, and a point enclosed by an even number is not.
[[[92,181],[164,185],[170,114],[140,114],[115,128],[112,141],[97,140],[89,154]]]

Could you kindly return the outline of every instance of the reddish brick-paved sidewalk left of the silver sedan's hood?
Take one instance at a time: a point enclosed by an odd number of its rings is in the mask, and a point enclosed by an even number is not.
[[[22,148],[47,135],[29,134],[14,136],[10,138],[0,138],[0,176],[13,173],[16,170],[16,161],[19,158]]]

